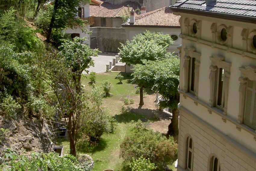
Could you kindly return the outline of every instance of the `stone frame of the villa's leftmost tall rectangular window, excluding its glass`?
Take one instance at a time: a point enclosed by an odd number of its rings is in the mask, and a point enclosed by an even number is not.
[[[198,85],[199,85],[199,68],[200,68],[200,58],[201,58],[201,53],[196,51],[196,48],[191,46],[184,48],[185,51],[185,56],[184,56],[184,79],[185,79],[185,84],[184,84],[184,90],[185,92],[190,92],[195,95],[195,98],[198,99]],[[194,85],[194,92],[189,91],[189,77],[190,77],[190,60],[191,58],[195,58],[195,85]]]

